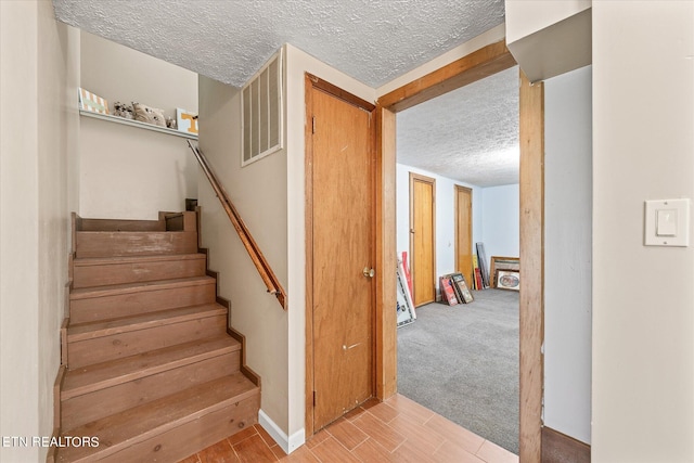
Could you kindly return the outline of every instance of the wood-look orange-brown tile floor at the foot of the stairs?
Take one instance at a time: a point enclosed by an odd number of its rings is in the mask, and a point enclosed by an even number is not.
[[[518,456],[407,397],[371,400],[290,455],[255,425],[181,463],[517,463]]]

